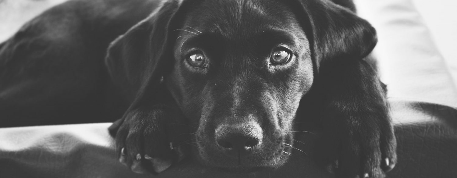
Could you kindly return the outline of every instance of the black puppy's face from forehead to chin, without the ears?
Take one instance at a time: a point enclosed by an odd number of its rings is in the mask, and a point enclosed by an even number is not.
[[[215,167],[281,166],[313,83],[302,26],[280,1],[205,0],[186,9],[165,81],[198,123],[197,157]]]

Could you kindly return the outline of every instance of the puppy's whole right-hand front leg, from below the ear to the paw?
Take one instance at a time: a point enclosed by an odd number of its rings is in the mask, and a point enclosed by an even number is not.
[[[333,62],[322,71],[326,150],[340,178],[383,178],[396,163],[386,91],[365,60]],[[327,152],[329,154],[329,152]]]

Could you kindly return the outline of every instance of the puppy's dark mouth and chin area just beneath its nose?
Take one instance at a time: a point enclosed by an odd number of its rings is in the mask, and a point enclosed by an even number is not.
[[[214,144],[208,144],[199,136],[196,136],[196,140],[193,152],[197,155],[197,160],[206,166],[236,173],[280,168],[292,156],[293,149],[292,135],[265,141],[264,145],[249,150],[248,154],[243,155],[239,151],[235,156],[224,154]]]

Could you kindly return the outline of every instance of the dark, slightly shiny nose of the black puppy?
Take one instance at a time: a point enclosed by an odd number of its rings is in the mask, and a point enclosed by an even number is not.
[[[216,129],[216,142],[231,156],[244,156],[262,142],[262,129],[259,124],[220,125]]]

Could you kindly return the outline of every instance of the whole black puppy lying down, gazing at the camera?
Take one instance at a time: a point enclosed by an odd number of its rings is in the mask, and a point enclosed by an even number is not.
[[[0,45],[0,116],[118,119],[119,160],[137,173],[186,154],[234,171],[281,167],[294,125],[315,119],[338,177],[381,178],[396,141],[376,43],[351,0],[73,0]]]

